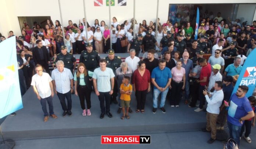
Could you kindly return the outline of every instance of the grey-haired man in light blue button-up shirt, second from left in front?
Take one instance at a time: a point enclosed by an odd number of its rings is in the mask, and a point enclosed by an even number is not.
[[[60,104],[63,109],[63,117],[67,114],[68,116],[72,116],[71,108],[72,108],[72,100],[71,100],[71,92],[73,90],[73,75],[70,69],[64,68],[63,61],[56,62],[57,69],[54,69],[51,72],[51,78],[53,79],[53,86],[55,89],[55,93],[60,99]],[[68,106],[66,105],[65,98],[67,98]]]

